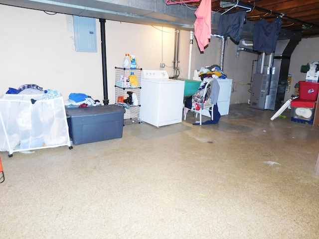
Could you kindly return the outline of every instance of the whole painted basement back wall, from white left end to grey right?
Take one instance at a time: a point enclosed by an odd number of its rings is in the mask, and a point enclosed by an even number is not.
[[[37,84],[59,91],[85,93],[103,101],[100,22],[96,19],[98,52],[76,52],[71,15],[48,15],[43,11],[0,5],[0,95],[9,87]],[[115,103],[115,67],[121,67],[125,53],[136,55],[139,67],[160,70],[160,62],[173,75],[174,28],[106,21],[107,77],[110,104]],[[215,33],[215,32],[213,32]],[[180,31],[180,78],[187,78],[189,31]],[[247,103],[252,61],[255,54],[241,52],[227,40],[224,73],[233,79],[231,104]],[[191,76],[194,69],[220,65],[221,40],[212,38],[202,53],[194,39]],[[303,62],[307,63],[307,62]],[[293,73],[292,73],[293,74]]]

